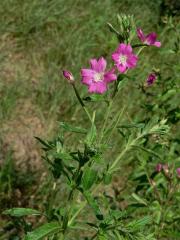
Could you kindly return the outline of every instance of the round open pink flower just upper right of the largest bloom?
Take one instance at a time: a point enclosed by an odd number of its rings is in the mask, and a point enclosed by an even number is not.
[[[121,43],[112,54],[112,59],[118,70],[124,73],[128,68],[134,68],[136,66],[138,58],[133,54],[130,44]]]

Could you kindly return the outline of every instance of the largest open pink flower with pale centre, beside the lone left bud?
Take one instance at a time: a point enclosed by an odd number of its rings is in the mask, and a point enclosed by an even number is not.
[[[115,69],[105,71],[106,64],[106,60],[101,57],[99,60],[90,60],[90,69],[81,69],[82,83],[88,86],[90,93],[104,93],[108,83],[117,79]]]

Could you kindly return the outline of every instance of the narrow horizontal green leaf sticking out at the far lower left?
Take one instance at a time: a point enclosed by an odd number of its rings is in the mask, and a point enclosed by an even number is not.
[[[31,208],[11,208],[3,212],[5,215],[10,215],[11,217],[23,217],[27,215],[41,215],[42,213]]]

